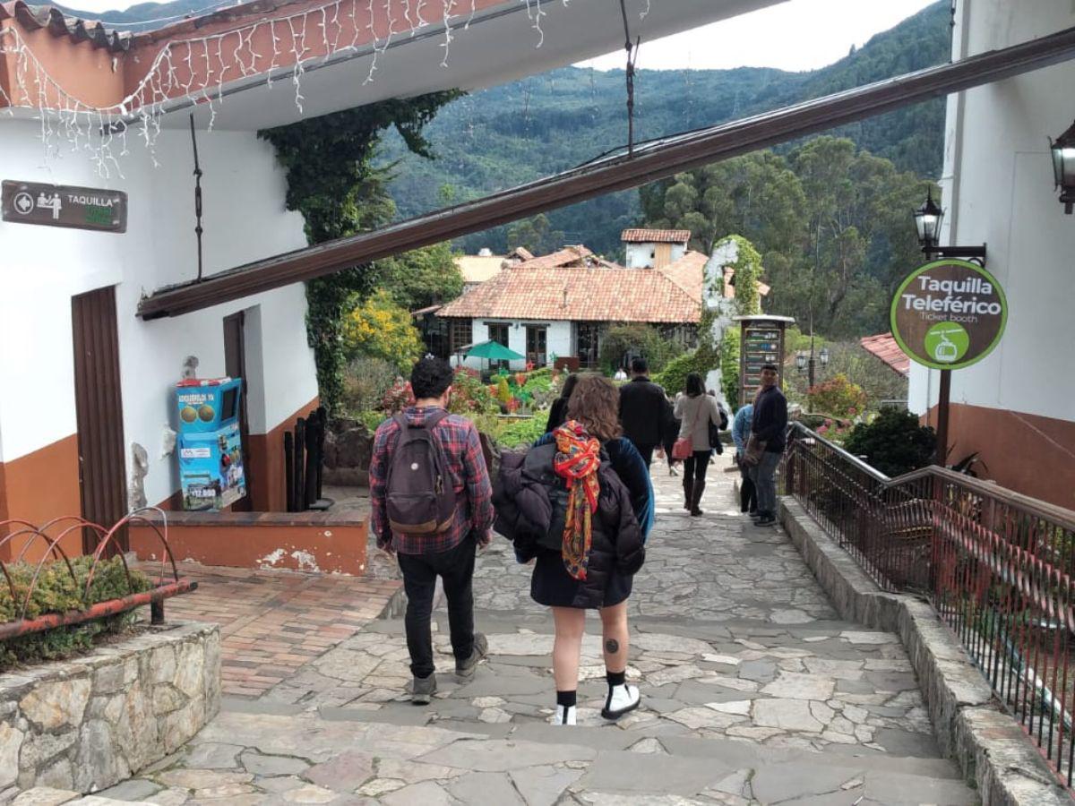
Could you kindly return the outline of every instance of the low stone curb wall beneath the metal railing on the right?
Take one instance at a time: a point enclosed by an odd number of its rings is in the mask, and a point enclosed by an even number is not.
[[[897,633],[918,676],[941,751],[984,806],[1071,806],[1037,748],[993,697],[988,680],[927,602],[885,593],[793,499],[780,521],[842,618]]]

